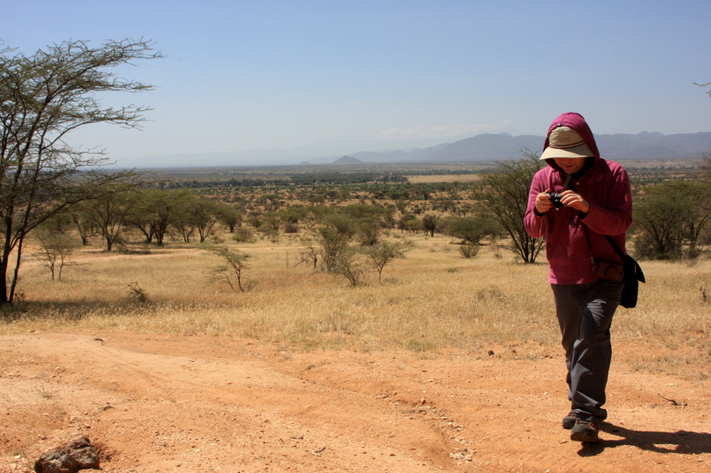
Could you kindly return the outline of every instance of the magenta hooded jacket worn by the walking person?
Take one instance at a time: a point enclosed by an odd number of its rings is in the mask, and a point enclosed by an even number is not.
[[[552,208],[542,215],[535,210],[536,196],[548,188],[555,193],[562,192],[567,178],[554,160],[547,159],[548,166],[533,177],[524,224],[533,238],[545,236],[545,253],[550,267],[548,282],[583,284],[597,279],[590,258],[591,248],[595,261],[621,262],[605,235],[611,235],[625,251],[625,232],[632,223],[632,192],[624,168],[600,158],[592,131],[581,115],[560,115],[550,125],[548,136],[560,126],[578,132],[595,154],[592,167],[577,179],[571,179],[567,187],[585,198],[590,210],[582,213],[570,207]],[[548,147],[548,136],[544,150]]]

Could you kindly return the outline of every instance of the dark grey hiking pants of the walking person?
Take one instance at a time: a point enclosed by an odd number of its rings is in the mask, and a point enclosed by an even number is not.
[[[616,281],[551,285],[568,367],[568,399],[578,418],[598,424],[607,418],[602,405],[612,358],[610,325],[623,286],[622,273]]]

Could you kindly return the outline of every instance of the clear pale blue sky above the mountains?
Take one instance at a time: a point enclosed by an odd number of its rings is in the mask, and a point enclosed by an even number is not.
[[[72,141],[112,159],[343,144],[433,146],[544,135],[562,112],[596,134],[711,131],[711,1],[4,1],[0,38],[146,38],[164,58],[116,70],[155,86],[141,131]],[[344,148],[345,149],[345,148]]]

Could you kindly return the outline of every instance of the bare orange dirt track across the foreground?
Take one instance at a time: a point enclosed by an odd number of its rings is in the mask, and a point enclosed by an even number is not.
[[[711,471],[702,383],[614,363],[602,442],[581,445],[560,427],[569,410],[562,355],[533,344],[493,351],[3,336],[0,471],[29,470],[77,435],[100,446],[105,472]]]

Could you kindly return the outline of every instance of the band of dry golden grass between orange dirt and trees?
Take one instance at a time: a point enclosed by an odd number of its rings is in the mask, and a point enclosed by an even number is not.
[[[296,237],[276,245],[230,243],[254,256],[245,277],[258,284],[244,294],[208,285],[205,271],[217,260],[189,245],[150,255],[82,250],[75,258],[81,264],[69,267],[61,282],[51,282],[46,268],[23,267],[26,302],[6,314],[0,334],[74,327],[253,336],[306,350],[420,352],[559,343],[547,265],[516,264],[510,253],[498,259],[486,246],[466,260],[448,239],[412,239],[415,249],[385,267],[382,283],[370,273],[356,288],[293,267]],[[695,347],[697,361],[707,360],[711,307],[699,287],[709,286],[711,262],[644,262],[643,269],[649,282],[641,285],[638,308],[616,314],[616,340],[684,344]],[[147,302],[129,297],[133,282]]]

